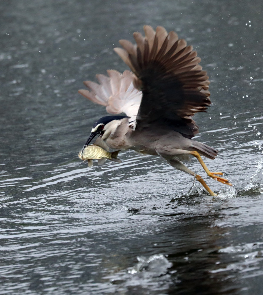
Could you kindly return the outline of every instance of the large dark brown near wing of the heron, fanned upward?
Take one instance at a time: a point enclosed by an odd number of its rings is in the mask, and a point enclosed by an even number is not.
[[[122,48],[114,48],[136,75],[134,85],[143,93],[136,118],[136,129],[154,122],[169,126],[192,138],[198,126],[192,120],[197,112],[205,112],[211,104],[208,76],[202,71],[192,46],[167,34],[163,27],[156,32],[144,26],[145,37],[135,32],[137,45],[120,40]]]

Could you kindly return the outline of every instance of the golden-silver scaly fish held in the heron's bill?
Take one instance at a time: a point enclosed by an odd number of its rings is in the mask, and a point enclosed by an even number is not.
[[[97,159],[99,165],[102,165],[107,159],[121,163],[121,160],[117,158],[119,151],[110,153],[109,147],[98,137],[94,144],[86,146],[84,150],[79,152],[79,158],[84,161],[87,160],[89,167],[93,166],[93,159]]]

